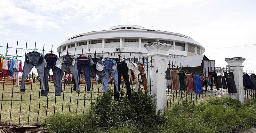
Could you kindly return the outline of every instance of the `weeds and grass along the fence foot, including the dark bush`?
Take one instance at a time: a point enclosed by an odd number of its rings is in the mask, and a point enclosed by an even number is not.
[[[215,133],[232,132],[256,124],[256,100],[239,101],[224,98],[200,106],[184,102],[182,106],[156,115],[152,97],[133,94],[133,100],[121,96],[119,102],[112,94],[103,95],[92,104],[92,114],[55,114],[47,120],[51,132],[168,132]]]

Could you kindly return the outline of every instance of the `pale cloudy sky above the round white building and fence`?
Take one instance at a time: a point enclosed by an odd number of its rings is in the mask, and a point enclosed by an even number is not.
[[[198,41],[204,55],[226,66],[225,58],[244,57],[256,72],[255,0],[1,0],[0,46],[53,50],[68,38],[112,26],[138,25],[181,33]],[[234,48],[233,46],[250,45]],[[6,50],[0,48],[0,53]],[[25,50],[19,50],[20,56]],[[8,55],[15,55],[10,48]]]

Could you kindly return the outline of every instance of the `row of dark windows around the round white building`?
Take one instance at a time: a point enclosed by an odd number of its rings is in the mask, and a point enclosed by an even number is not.
[[[120,41],[121,41],[120,39],[105,39],[105,43],[120,42]],[[141,39],[140,42],[142,42],[142,43],[151,43],[151,42],[155,42],[155,41],[156,41],[155,39]],[[124,42],[139,42],[139,39],[138,38],[124,38]],[[159,40],[159,42],[173,45],[173,41]],[[97,44],[97,43],[102,43],[102,39],[101,40],[91,40],[89,44]],[[82,41],[82,42],[77,42],[76,43],[76,46],[82,46],[82,45],[87,45],[87,41]],[[185,43],[175,42],[175,46],[185,47]],[[68,45],[68,48],[72,48],[72,47],[75,47],[75,43]],[[66,50],[66,46],[64,46],[62,48],[62,50]],[[192,49],[192,51],[193,51],[193,49]]]

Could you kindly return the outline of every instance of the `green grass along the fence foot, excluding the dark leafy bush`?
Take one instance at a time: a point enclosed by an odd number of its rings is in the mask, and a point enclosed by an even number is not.
[[[160,123],[138,122],[122,116],[113,118],[116,123],[100,127],[94,116],[86,114],[56,114],[47,120],[48,129],[53,133],[64,132],[166,132],[166,133],[216,133],[232,132],[249,128],[256,124],[256,100],[245,104],[237,100],[224,98],[209,101],[203,105],[184,102],[182,106],[166,111]],[[100,117],[100,116],[98,116]],[[97,118],[97,117],[96,117]],[[111,122],[110,122],[111,123]]]

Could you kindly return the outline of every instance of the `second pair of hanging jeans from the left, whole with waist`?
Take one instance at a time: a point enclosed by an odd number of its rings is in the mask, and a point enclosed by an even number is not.
[[[45,66],[44,66],[44,87],[45,91],[42,92],[41,96],[47,96],[49,92],[49,74],[50,69],[52,68],[53,79],[54,79],[54,89],[55,96],[60,96],[60,92],[62,91],[62,77],[61,77],[61,69],[56,67],[56,62],[59,57],[54,54],[46,54],[44,55]]]

